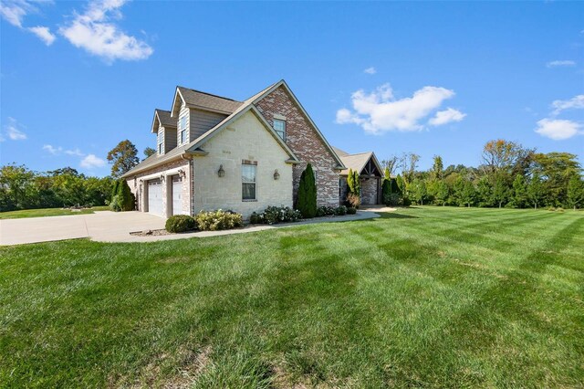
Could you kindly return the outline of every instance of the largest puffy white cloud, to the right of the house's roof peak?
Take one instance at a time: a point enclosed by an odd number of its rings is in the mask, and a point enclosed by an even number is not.
[[[370,93],[360,89],[351,95],[354,111],[338,110],[337,122],[358,124],[364,131],[370,133],[420,131],[423,128],[420,121],[428,117],[433,110],[437,110],[444,100],[453,97],[454,90],[439,87],[423,87],[416,90],[411,98],[401,100],[393,97],[390,84],[381,85]],[[464,113],[454,111],[457,112],[454,117],[462,115],[460,120],[464,118]],[[441,118],[445,115],[446,113],[441,114]],[[452,116],[452,113],[450,115]]]

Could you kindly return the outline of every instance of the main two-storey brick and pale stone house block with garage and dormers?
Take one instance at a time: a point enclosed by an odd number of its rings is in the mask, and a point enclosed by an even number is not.
[[[122,176],[142,212],[221,208],[248,217],[268,205],[293,206],[307,163],[318,205],[341,201],[339,176],[348,168],[284,80],[244,101],[177,87],[171,110],[154,110],[151,131],[156,153]],[[360,171],[373,179],[378,165]]]

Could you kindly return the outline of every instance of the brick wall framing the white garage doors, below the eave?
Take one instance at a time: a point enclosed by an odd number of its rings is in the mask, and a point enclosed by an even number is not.
[[[131,192],[136,196],[139,211],[144,212],[147,205],[148,205],[148,195],[144,189],[148,183],[147,183],[147,181],[143,181],[142,183],[140,183],[141,177],[155,174],[155,173],[164,173],[165,171],[168,171],[168,170],[171,170],[171,169],[174,169],[177,167],[183,167],[183,169],[186,173],[186,175],[183,177],[183,215],[191,215],[192,214],[191,187],[190,187],[190,185],[193,182],[193,180],[190,179],[192,177],[192,172],[191,172],[192,169],[191,169],[191,163],[189,163],[189,161],[185,161],[183,159],[172,161],[170,163],[164,163],[164,164],[162,164],[160,166],[156,166],[150,170],[136,173],[135,175],[132,175],[130,178],[126,179],[126,181],[128,182],[128,185],[130,186]],[[155,179],[155,178],[151,178],[151,179]],[[166,180],[170,180],[170,179],[171,179],[171,176],[166,177]],[[167,187],[168,187],[167,181],[165,181],[162,184],[162,210],[166,210],[167,199],[168,199]],[[170,200],[172,201],[172,197]],[[165,216],[168,217],[170,215],[165,215]]]

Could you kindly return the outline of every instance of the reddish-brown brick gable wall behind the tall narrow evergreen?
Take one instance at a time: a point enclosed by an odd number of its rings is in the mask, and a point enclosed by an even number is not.
[[[339,171],[335,167],[339,163],[335,161],[287,90],[280,86],[258,101],[256,107],[272,126],[275,115],[286,118],[287,145],[302,161],[293,167],[294,202],[296,203],[297,199],[300,175],[306,169],[307,163],[312,163],[317,175],[318,205],[338,206]]]

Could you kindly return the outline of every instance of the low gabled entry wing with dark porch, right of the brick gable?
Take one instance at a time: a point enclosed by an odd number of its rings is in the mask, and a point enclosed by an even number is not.
[[[338,148],[333,148],[339,155],[345,169],[340,171],[339,198],[342,202],[349,194],[347,176],[349,169],[359,173],[361,187],[361,204],[376,205],[381,204],[381,184],[383,184],[383,170],[373,152],[360,152],[349,154]]]

